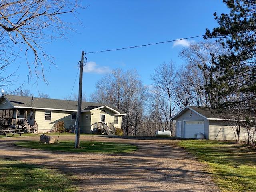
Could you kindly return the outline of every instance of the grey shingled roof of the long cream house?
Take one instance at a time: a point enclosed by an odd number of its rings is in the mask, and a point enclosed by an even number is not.
[[[34,108],[49,110],[77,111],[78,101],[68,101],[61,99],[37,98],[31,101],[32,97],[5,95],[3,96],[14,108]],[[82,102],[82,110],[93,110],[99,107],[107,106],[110,110],[117,114],[125,114],[122,110],[102,103]]]

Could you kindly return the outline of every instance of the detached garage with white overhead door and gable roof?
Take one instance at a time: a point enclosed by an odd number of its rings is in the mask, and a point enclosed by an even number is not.
[[[224,115],[205,107],[186,106],[171,120],[176,121],[176,137],[195,138],[202,133],[206,139],[236,140],[234,130]],[[240,139],[246,140],[246,129],[240,130]]]

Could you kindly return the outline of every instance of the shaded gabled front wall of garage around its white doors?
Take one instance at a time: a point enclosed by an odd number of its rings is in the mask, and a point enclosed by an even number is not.
[[[196,114],[194,111],[191,111],[191,110],[187,110],[186,112],[184,112],[180,117],[178,117],[175,120],[176,130],[178,130],[178,121],[181,121],[181,134],[182,134],[182,137],[183,137],[183,135],[184,135],[184,121],[192,121],[192,120],[204,120],[204,137],[206,139],[208,139],[209,120],[207,120],[206,118]],[[178,134],[178,131],[176,131],[176,134],[175,134],[176,137],[178,137],[177,134]]]

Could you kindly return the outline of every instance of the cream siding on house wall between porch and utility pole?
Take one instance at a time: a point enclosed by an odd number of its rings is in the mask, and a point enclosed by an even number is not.
[[[52,110],[51,120],[44,120],[45,110],[36,110],[35,120],[38,124],[38,133],[46,133],[52,130],[52,126],[56,122],[64,121],[65,128],[69,128],[70,125],[74,125],[76,120],[71,119],[72,112],[54,111]]]

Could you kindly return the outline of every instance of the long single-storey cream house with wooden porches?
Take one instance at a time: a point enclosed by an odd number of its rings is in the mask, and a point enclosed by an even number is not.
[[[0,98],[0,126],[45,133],[50,132],[56,122],[64,121],[68,129],[75,125],[77,107],[77,101],[5,95]],[[124,115],[122,110],[109,104],[82,102],[80,130],[115,134],[115,128],[122,128]]]

